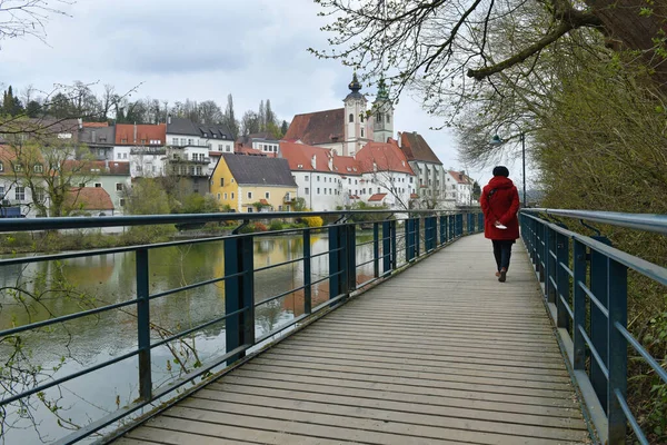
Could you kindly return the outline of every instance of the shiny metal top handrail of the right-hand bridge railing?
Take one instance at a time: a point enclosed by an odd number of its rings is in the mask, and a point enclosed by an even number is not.
[[[526,214],[544,214],[564,218],[584,219],[610,226],[667,234],[667,215],[624,214],[619,211],[565,210],[550,208],[525,208]]]

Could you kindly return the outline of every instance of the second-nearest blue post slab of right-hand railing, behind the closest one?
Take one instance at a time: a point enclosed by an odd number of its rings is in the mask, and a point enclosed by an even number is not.
[[[590,291],[595,295],[598,300],[608,309],[607,306],[607,257],[591,249],[590,251]],[[590,342],[593,347],[599,354],[605,366],[608,366],[607,360],[607,316],[597,307],[597,305],[590,305]],[[597,360],[590,360],[590,383],[593,388],[600,400],[600,404],[607,409],[608,394],[607,394],[607,377],[604,370],[597,364]],[[607,413],[609,414],[609,413]]]

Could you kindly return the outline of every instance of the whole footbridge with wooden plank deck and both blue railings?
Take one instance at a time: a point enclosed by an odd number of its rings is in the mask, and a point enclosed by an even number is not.
[[[665,383],[667,373],[626,330],[627,271],[666,285],[667,270],[549,222],[548,215],[667,231],[665,217],[526,211],[508,279],[498,283],[490,243],[479,234],[481,216],[416,212],[372,222],[370,240],[358,243],[348,212],[321,229],[326,253],[310,250],[318,229],[299,230],[302,255],[285,264],[302,265],[303,284],[290,289],[300,293],[302,309],[263,334],[255,310],[286,293],[258,300],[253,283],[280,265],[253,265],[252,239],[263,235],[216,238],[223,243],[223,276],[189,288],[225,281],[225,314],[211,314],[207,326],[225,323],[226,354],[162,386],[151,378],[151,350],[206,326],[156,340],[150,307],[176,290],[150,294],[155,246],[123,248],[136,253],[137,295],[127,306],[136,306],[137,347],[127,356],[136,359],[139,398],[58,443],[96,434],[118,445],[620,444],[628,434],[648,443],[626,402],[628,346]],[[183,222],[155,218],[103,222]],[[100,225],[66,219],[28,224]],[[0,231],[17,228],[2,224]],[[196,243],[207,241],[213,240]],[[358,255],[365,246],[369,260]],[[88,254],[60,259],[80,255]],[[328,261],[323,279],[312,279],[318,257]],[[20,260],[0,267],[12,261]],[[364,266],[370,276],[357,273]],[[312,290],[322,283],[329,293],[318,300]],[[76,316],[6,329],[0,338]],[[2,404],[11,408],[103,366],[28,385]]]

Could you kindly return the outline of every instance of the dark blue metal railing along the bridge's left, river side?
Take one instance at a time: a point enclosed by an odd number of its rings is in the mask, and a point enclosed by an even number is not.
[[[357,215],[390,215],[394,218],[372,222],[372,240],[369,243],[356,244],[356,233],[358,224],[346,222],[346,219]],[[137,359],[138,366],[138,393],[139,398],[128,406],[121,407],[101,418],[93,419],[84,427],[74,433],[58,439],[57,444],[72,444],[91,435],[109,429],[116,422],[128,419],[130,416],[142,408],[150,408],[149,405],[162,403],[173,398],[175,390],[196,378],[207,375],[210,372],[220,370],[221,367],[229,366],[246,354],[252,347],[262,344],[277,335],[285,334],[287,329],[303,322],[313,314],[336,306],[341,300],[348,298],[352,293],[360,290],[379,279],[389,277],[394,271],[414,263],[419,257],[424,257],[436,249],[460,238],[464,235],[474,234],[484,229],[481,214],[449,214],[437,212],[434,210],[410,210],[410,211],[387,211],[387,210],[362,210],[362,211],[335,211],[335,212],[271,212],[271,214],[208,214],[208,215],[160,215],[160,216],[129,216],[129,217],[104,217],[104,218],[40,218],[17,220],[0,220],[0,234],[29,231],[29,230],[58,230],[77,228],[100,228],[100,227],[128,227],[142,225],[191,225],[209,221],[238,221],[243,222],[237,227],[235,233],[248,224],[250,220],[267,220],[277,218],[298,218],[322,216],[325,218],[338,218],[329,226],[321,228],[289,229],[280,231],[255,233],[248,235],[218,236],[203,239],[178,240],[171,243],[160,243],[143,246],[119,247],[108,249],[94,249],[89,251],[66,253],[56,255],[39,255],[30,257],[17,257],[0,259],[0,268],[11,265],[26,265],[30,263],[43,263],[53,260],[67,260],[71,258],[86,258],[100,255],[133,253],[136,257],[136,298],[122,300],[121,303],[103,305],[88,310],[81,310],[76,314],[48,318],[36,323],[29,323],[21,326],[14,326],[0,330],[0,342],[10,336],[27,334],[37,329],[54,327],[81,317],[99,315],[119,308],[135,308],[137,314],[137,348],[118,355],[106,362],[98,363],[94,366],[87,366],[64,376],[49,379],[36,384],[31,387],[24,387],[16,392],[6,392],[0,397],[0,409],[3,413],[10,412],[10,407],[20,404],[31,396],[43,394],[50,388],[58,387],[78,377],[94,373],[96,370],[111,366],[126,359]],[[368,225],[368,222],[366,222]],[[405,233],[398,235],[398,227],[402,225]],[[422,228],[421,228],[422,227]],[[313,255],[311,253],[311,235],[316,233],[328,234],[327,251]],[[301,256],[296,259],[256,268],[253,265],[253,240],[266,236],[298,235],[302,240]],[[209,279],[190,284],[188,286],[177,287],[160,293],[150,291],[150,270],[149,255],[158,248],[169,246],[183,246],[201,243],[222,243],[225,269],[223,276],[210,277]],[[370,261],[357,265],[356,249],[364,245],[372,244],[372,259]],[[404,251],[399,251],[402,249]],[[329,273],[327,276],[313,280],[311,263],[313,258],[325,257],[328,259]],[[283,293],[263,298],[256,301],[255,277],[268,269],[285,266],[287,264],[302,264],[302,286],[289,289]],[[374,276],[365,283],[357,283],[357,269],[366,264],[372,264]],[[329,281],[329,298],[313,306],[312,288],[323,281]],[[167,338],[159,340],[151,339],[151,304],[168,295],[173,295],[182,290],[198,289],[211,284],[225,284],[225,314],[215,314],[212,318],[203,324],[181,330]],[[289,323],[282,324],[276,329],[256,336],[255,312],[270,301],[286,297],[296,291],[303,291],[303,314],[295,316]],[[210,327],[216,324],[225,323],[226,354],[215,359],[208,360],[196,370],[178,379],[173,379],[166,386],[156,386],[152,380],[152,355],[151,352],[159,346],[167,345],[170,342],[178,340],[185,336]],[[121,327],[118,326],[118,329]]]

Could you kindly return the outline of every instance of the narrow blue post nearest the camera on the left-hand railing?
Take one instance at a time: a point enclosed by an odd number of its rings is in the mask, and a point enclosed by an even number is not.
[[[137,340],[139,348],[139,397],[152,398],[152,372],[150,360],[150,300],[148,249],[139,249],[137,259]]]

